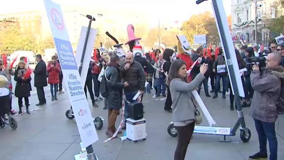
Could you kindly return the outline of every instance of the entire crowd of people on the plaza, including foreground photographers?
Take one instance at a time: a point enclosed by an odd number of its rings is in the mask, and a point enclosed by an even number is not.
[[[251,159],[267,157],[266,139],[269,141],[270,160],[277,159],[277,139],[275,136],[275,121],[277,119],[276,110],[269,108],[276,104],[280,94],[280,79],[272,72],[283,72],[284,66],[284,45],[276,46],[270,44],[271,51],[259,51],[258,46],[242,46],[240,51],[235,49],[239,69],[246,69],[241,73],[241,80],[244,87],[245,97],[243,98],[243,107],[251,106],[250,115],[255,121],[255,126],[259,136],[260,152],[250,156]],[[100,53],[98,49],[94,50],[89,63],[88,74],[84,87],[85,93],[89,91],[92,105],[98,107],[96,101],[103,100],[100,92],[102,90],[102,79],[106,80],[106,90],[108,94],[104,97],[104,109],[108,109],[108,129],[106,135],[114,135],[116,128],[115,122],[122,108],[124,98],[124,117],[129,117],[129,104],[138,100],[142,101],[144,93],[154,91],[154,97],[166,97],[164,110],[173,112],[174,126],[178,132],[178,144],[175,152],[175,160],[184,159],[189,145],[194,123],[194,109],[186,99],[190,98],[189,92],[197,90],[200,94],[202,84],[205,96],[213,99],[218,98],[218,92],[222,93],[222,98],[226,98],[226,92],[230,90],[230,109],[234,110],[234,95],[228,77],[224,52],[218,49],[218,56],[215,57],[215,51],[204,51],[203,47],[198,47],[192,55],[178,54],[172,49],[166,48],[163,52],[160,49],[149,51],[148,53],[127,52],[124,56],[118,56],[116,53]],[[270,54],[269,54],[270,53]],[[207,55],[207,56],[205,56]],[[209,56],[208,56],[209,55]],[[266,57],[266,68],[260,68],[259,65],[251,63],[251,57]],[[198,61],[201,59],[200,61]],[[37,88],[39,103],[46,103],[44,87],[50,84],[51,100],[58,100],[57,93],[63,93],[62,80],[63,74],[60,68],[57,55],[52,57],[52,61],[46,63],[41,55],[36,55],[37,65],[34,73],[34,87]],[[194,63],[198,61],[198,63]],[[192,64],[195,64],[192,66]],[[192,67],[190,74],[188,70]],[[262,66],[265,67],[265,66]],[[282,70],[281,70],[282,69]],[[261,70],[261,71],[260,71]],[[15,67],[15,72],[11,67],[3,67],[0,61],[0,75],[7,77],[9,89],[11,87],[11,76],[16,81],[15,96],[18,97],[19,112],[22,113],[23,102],[25,100],[26,113],[30,113],[29,96],[31,96],[31,76],[24,76],[29,71],[24,57]],[[103,76],[101,73],[103,72]],[[210,78],[211,91],[208,90],[208,80]],[[222,79],[222,87],[220,80]],[[94,84],[94,87],[92,86]],[[146,85],[145,85],[146,84]],[[58,88],[59,87],[59,88]],[[222,88],[222,90],[221,90]],[[94,90],[94,92],[93,92]],[[133,100],[137,92],[141,97]],[[87,95],[87,94],[86,94]],[[271,98],[271,95],[274,95]],[[262,110],[263,112],[260,112]],[[11,110],[12,113],[12,110]],[[122,129],[125,129],[124,124]],[[121,133],[119,131],[119,133]]]

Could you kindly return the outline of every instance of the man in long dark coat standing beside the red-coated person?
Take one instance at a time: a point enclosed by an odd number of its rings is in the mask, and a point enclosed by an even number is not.
[[[46,64],[41,59],[41,55],[36,55],[37,66],[34,69],[34,87],[37,88],[37,97],[39,103],[37,106],[44,105],[46,103],[46,99],[44,96],[44,87],[47,86],[46,79]]]

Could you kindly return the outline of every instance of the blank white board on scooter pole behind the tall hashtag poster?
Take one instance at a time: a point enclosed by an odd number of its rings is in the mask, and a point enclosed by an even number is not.
[[[79,64],[80,64],[81,57],[82,57],[82,52],[83,52],[83,48],[84,48],[85,38],[86,38],[86,35],[87,35],[87,30],[88,30],[87,27],[82,27],[80,37],[79,37],[79,42],[78,42],[76,56],[75,56],[76,63],[78,65],[77,66],[78,69],[79,69]],[[84,56],[84,60],[83,60],[82,71],[81,71],[81,74],[80,74],[83,88],[85,87],[85,83],[86,83],[86,78],[87,78],[87,74],[88,74],[89,64],[90,64],[90,61],[91,61],[93,46],[95,44],[96,35],[97,35],[97,30],[91,28],[90,33],[89,33],[87,46],[86,46],[85,56]]]

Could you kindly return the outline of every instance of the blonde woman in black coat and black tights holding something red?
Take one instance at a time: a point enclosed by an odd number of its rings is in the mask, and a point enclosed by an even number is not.
[[[16,87],[15,87],[15,96],[18,97],[18,105],[19,105],[19,112],[18,114],[22,113],[22,104],[23,104],[23,97],[25,100],[26,105],[26,113],[30,114],[29,111],[29,96],[31,96],[31,76],[29,78],[25,79],[24,75],[27,72],[27,65],[24,60],[20,60],[16,71],[14,80],[16,81]]]

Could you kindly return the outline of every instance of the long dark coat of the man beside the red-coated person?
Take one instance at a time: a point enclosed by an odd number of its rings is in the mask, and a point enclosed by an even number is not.
[[[43,60],[39,61],[34,69],[34,87],[47,86],[46,65]]]

